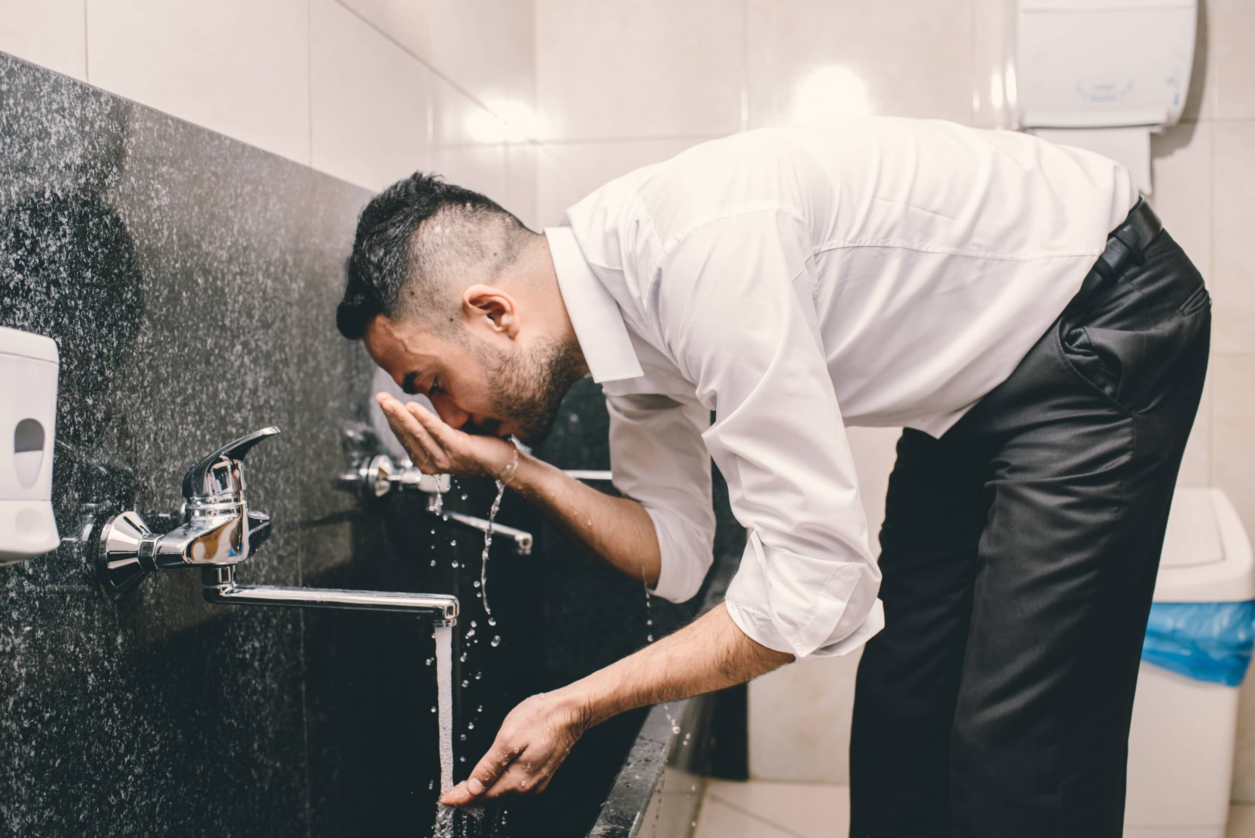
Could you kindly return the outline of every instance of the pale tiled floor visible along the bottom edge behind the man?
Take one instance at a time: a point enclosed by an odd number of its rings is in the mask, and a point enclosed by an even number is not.
[[[843,785],[709,780],[694,838],[833,838],[848,829]],[[1230,808],[1227,838],[1255,838],[1255,804]]]

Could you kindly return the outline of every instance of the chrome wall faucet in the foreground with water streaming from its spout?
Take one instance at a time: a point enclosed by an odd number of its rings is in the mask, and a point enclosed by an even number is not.
[[[122,512],[100,528],[100,583],[113,596],[136,588],[148,573],[200,567],[207,602],[277,605],[304,608],[405,611],[453,625],[458,600],[439,593],[345,591],[339,588],[247,586],[235,581],[235,566],[270,536],[270,516],[248,508],[243,457],[279,428],[262,428],[227,443],[188,469],[183,478],[183,523],[152,532],[137,512]]]

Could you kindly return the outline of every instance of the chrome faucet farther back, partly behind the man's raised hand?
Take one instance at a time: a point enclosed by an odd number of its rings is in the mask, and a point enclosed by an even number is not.
[[[443,494],[451,484],[448,474],[424,474],[408,459],[393,463],[388,454],[378,453],[382,445],[375,432],[358,422],[344,424],[343,442],[349,464],[336,477],[336,488],[366,499],[382,498],[394,491],[418,492],[424,496],[423,508],[428,514],[466,529],[488,532],[489,523],[483,518],[444,509]],[[517,554],[531,554],[532,533],[497,522],[491,526],[493,537],[510,538]]]

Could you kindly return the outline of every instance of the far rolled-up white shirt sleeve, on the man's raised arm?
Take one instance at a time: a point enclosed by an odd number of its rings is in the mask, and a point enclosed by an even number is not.
[[[614,485],[654,522],[661,568],[653,593],[684,602],[710,570],[714,507],[702,432],[710,411],[693,399],[606,394]]]

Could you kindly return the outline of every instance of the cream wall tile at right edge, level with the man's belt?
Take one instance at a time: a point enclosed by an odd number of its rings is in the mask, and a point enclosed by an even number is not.
[[[1214,252],[1215,306],[1211,345],[1219,353],[1255,353],[1255,263],[1250,226],[1255,221],[1255,120],[1217,122],[1215,133]]]

